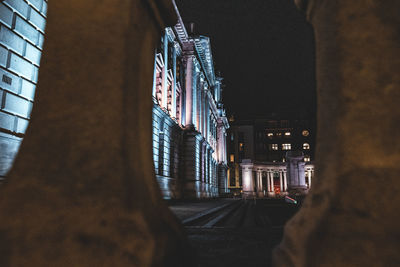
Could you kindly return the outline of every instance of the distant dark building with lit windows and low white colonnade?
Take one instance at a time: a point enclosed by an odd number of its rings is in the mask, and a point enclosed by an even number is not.
[[[247,196],[307,192],[314,178],[315,127],[304,118],[231,122],[228,188]]]

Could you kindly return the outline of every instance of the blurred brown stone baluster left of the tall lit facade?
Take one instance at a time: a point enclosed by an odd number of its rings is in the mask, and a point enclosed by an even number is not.
[[[152,159],[170,1],[50,1],[32,120],[0,188],[0,266],[190,266]]]

